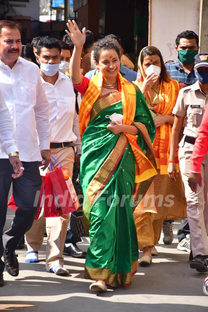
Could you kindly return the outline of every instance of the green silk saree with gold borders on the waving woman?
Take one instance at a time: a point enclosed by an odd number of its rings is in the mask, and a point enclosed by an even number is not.
[[[136,89],[134,123],[146,126],[151,141],[155,125],[146,101]],[[90,122],[82,135],[80,183],[84,194],[83,222],[90,244],[85,278],[103,280],[116,287],[129,286],[137,272],[138,242],[131,195],[135,185],[132,148],[123,133],[107,129],[106,115],[122,114],[121,93],[99,97],[91,110]],[[146,153],[141,132],[138,145]]]

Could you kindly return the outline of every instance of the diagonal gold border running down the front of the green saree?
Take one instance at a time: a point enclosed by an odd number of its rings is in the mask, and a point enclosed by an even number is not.
[[[123,133],[121,133],[118,141],[116,142],[116,145],[114,146],[114,149],[111,151],[102,166],[99,168],[98,172],[96,173],[86,190],[83,202],[83,224],[87,232],[89,232],[90,211],[92,204],[95,201],[96,197],[99,195],[99,193],[109,182],[109,179],[113,175],[120,159],[123,156],[123,152],[126,146],[127,138]]]

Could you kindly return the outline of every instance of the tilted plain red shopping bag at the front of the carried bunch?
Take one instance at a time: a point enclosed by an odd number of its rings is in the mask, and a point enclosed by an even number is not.
[[[65,180],[64,167],[58,167],[52,170],[49,175],[53,189],[56,193],[56,204],[58,203],[61,207],[63,214],[67,214],[76,210],[75,204],[71,197],[68,184]]]

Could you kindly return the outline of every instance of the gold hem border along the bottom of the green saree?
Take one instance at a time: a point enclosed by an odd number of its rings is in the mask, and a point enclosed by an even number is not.
[[[137,273],[138,259],[131,265],[131,272],[112,273],[110,269],[95,269],[85,265],[85,279],[103,280],[113,287],[128,287],[131,285],[132,276]]]

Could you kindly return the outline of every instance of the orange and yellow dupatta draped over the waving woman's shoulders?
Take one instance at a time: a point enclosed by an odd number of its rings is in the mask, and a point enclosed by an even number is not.
[[[103,83],[102,73],[99,72],[98,75],[92,77],[89,82],[88,89],[86,90],[79,110],[79,131],[80,136],[87,128],[90,122],[90,114],[95,101],[98,99]],[[118,83],[119,91],[122,95],[123,104],[123,124],[130,125],[133,123],[135,111],[136,111],[136,90],[135,87],[126,79],[124,79],[120,73],[118,73]],[[156,169],[149,161],[149,159],[144,155],[143,151],[137,144],[137,136],[124,133],[131,145],[134,159],[135,159],[135,183],[140,183],[145,181],[155,174],[157,174]]]

